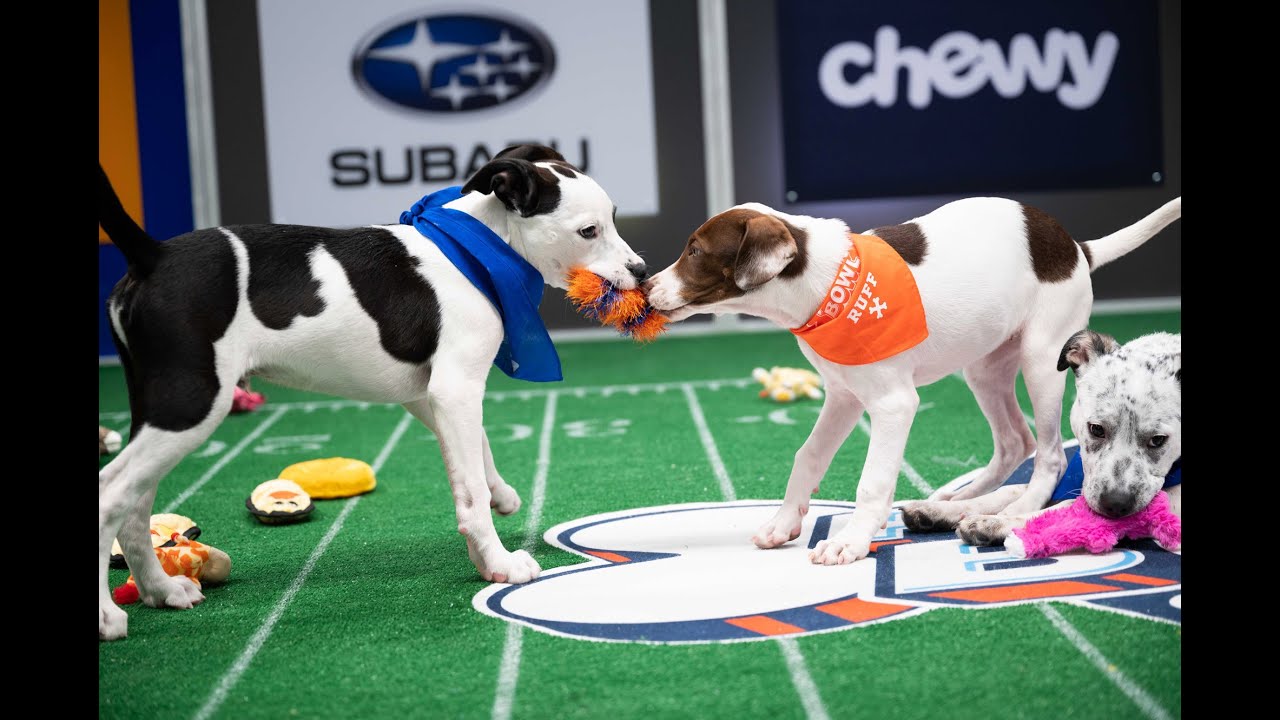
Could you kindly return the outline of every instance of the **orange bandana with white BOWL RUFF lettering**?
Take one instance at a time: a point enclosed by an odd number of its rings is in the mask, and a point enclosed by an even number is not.
[[[809,322],[792,328],[814,352],[841,365],[867,365],[929,337],[915,277],[902,258],[873,234],[849,233],[852,245],[831,290]]]

